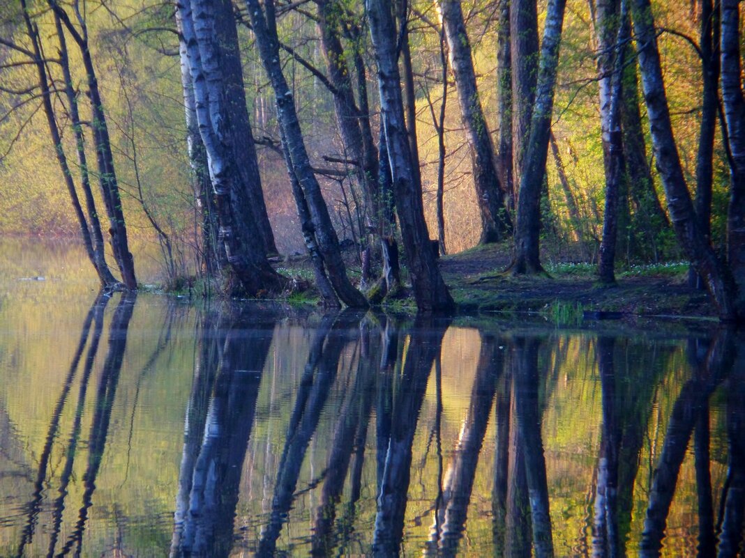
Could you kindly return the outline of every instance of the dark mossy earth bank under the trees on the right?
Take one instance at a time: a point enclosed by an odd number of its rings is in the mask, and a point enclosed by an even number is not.
[[[581,318],[714,318],[706,291],[686,283],[688,266],[668,263],[620,269],[612,286],[597,283],[594,265],[559,263],[547,275],[504,272],[504,246],[481,246],[442,257],[440,269],[461,312],[538,312],[555,321]]]

